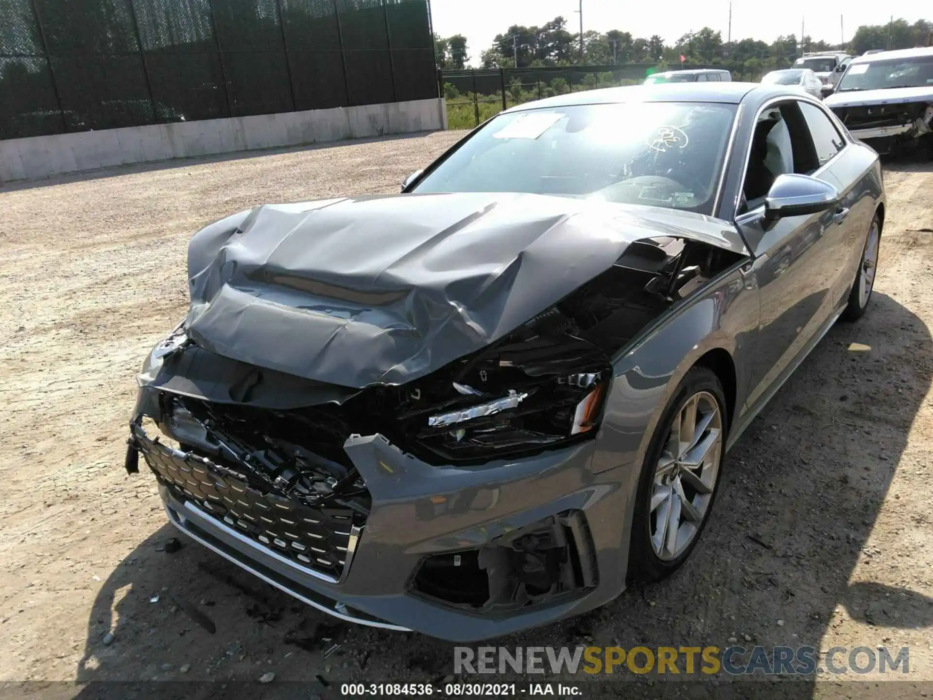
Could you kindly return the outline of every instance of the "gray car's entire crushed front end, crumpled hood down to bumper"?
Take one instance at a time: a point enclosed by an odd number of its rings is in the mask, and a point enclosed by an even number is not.
[[[593,467],[612,358],[744,259],[708,217],[655,217],[467,193],[216,222],[138,376],[127,469],[345,620],[474,641],[602,605],[640,470]]]

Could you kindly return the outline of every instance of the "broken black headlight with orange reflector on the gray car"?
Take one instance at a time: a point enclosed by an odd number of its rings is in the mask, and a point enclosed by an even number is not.
[[[583,440],[599,424],[610,367],[591,343],[508,343],[412,386],[403,441],[426,461],[488,461]]]

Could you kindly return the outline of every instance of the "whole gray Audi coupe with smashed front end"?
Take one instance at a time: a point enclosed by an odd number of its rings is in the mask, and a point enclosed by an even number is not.
[[[126,468],[308,605],[472,641],[696,546],[723,457],[870,301],[877,154],[783,86],[510,109],[396,195],[197,232]]]

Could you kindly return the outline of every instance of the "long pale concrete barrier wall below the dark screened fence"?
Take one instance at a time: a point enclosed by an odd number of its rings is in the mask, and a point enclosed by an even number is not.
[[[0,181],[447,128],[443,98],[0,141]]]

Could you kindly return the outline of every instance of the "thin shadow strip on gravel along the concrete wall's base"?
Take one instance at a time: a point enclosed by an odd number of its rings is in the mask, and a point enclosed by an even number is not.
[[[195,165],[204,165],[207,163],[244,161],[250,158],[262,158],[264,156],[274,156],[282,153],[297,153],[299,151],[307,150],[321,150],[341,146],[373,144],[383,141],[402,141],[410,138],[422,138],[429,133],[434,132],[393,133],[385,136],[344,139],[342,141],[328,141],[324,144],[310,144],[307,146],[260,148],[257,150],[234,151],[232,153],[218,153],[215,156],[202,156],[199,158],[174,158],[170,161],[151,161],[132,165],[114,165],[112,167],[99,168],[97,170],[89,170],[82,173],[52,175],[50,177],[35,180],[14,180],[7,183],[0,181],[0,192],[13,192],[19,189],[44,188],[52,185],[63,185],[69,182],[85,182],[88,180],[99,180],[104,177],[132,175],[133,173],[153,173],[160,170],[171,170],[173,168],[189,168]],[[401,188],[401,183],[398,183],[398,186]]]

